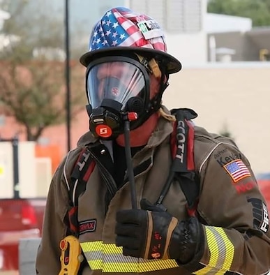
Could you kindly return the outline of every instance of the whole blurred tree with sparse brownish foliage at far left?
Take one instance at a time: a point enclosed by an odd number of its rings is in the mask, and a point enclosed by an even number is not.
[[[40,0],[1,3],[11,15],[2,32],[17,39],[0,52],[0,109],[25,127],[27,140],[38,140],[45,128],[66,120],[65,66],[59,54],[63,20],[49,15],[50,8],[36,9]],[[72,68],[70,105],[75,117],[85,95],[82,69]]]

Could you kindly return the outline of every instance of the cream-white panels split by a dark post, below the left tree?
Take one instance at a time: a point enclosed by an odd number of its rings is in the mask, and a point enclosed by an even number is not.
[[[50,158],[36,158],[35,142],[19,142],[19,182],[21,198],[45,197],[52,177]],[[13,198],[13,147],[0,142],[0,198]]]

